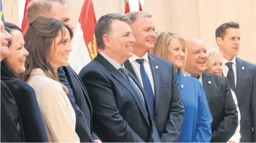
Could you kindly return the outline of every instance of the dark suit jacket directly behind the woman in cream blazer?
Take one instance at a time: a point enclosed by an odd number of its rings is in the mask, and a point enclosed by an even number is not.
[[[94,139],[99,139],[92,132],[92,107],[85,85],[70,66],[59,67],[58,74],[59,81],[69,89],[67,97],[75,110],[75,131],[80,142],[93,142]]]

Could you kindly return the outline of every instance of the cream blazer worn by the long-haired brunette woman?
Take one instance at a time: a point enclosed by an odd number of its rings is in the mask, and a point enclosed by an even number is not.
[[[49,142],[80,142],[75,133],[75,111],[59,82],[34,68],[26,81],[36,92]]]

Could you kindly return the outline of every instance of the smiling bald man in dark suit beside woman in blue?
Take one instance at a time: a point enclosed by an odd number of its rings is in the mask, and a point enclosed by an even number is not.
[[[238,126],[238,112],[227,79],[205,72],[206,48],[199,39],[187,39],[187,60],[184,73],[197,78],[205,89],[213,116],[211,142],[227,142]]]

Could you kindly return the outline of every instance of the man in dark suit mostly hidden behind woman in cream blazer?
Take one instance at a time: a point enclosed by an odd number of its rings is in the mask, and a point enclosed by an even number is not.
[[[60,20],[68,24],[69,27],[73,29],[73,26],[70,24],[69,7],[67,5],[67,1],[34,0],[29,3],[27,12],[29,23],[31,23],[31,21],[38,16],[43,15]],[[59,67],[58,74],[59,81],[62,82],[67,89],[69,89],[67,97],[69,97],[70,103],[75,111],[75,131],[80,138],[80,142],[99,141],[99,138],[92,131],[92,107],[83,82],[81,82],[81,79],[77,73],[75,73],[70,66]]]

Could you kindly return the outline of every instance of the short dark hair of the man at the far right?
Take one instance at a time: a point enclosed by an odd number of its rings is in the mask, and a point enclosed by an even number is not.
[[[227,22],[227,23],[223,23],[221,24],[215,31],[215,37],[220,37],[220,38],[224,38],[225,34],[226,34],[226,29],[228,28],[236,28],[239,29],[239,24],[233,21]]]

